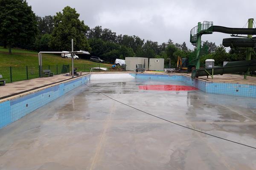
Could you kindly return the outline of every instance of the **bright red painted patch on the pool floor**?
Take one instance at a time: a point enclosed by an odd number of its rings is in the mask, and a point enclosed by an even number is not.
[[[154,91],[192,91],[198,88],[187,85],[139,85],[140,90]]]

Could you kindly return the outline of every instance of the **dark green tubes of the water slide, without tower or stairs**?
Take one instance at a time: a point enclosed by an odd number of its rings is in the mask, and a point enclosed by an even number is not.
[[[245,34],[245,35],[256,35],[256,28],[228,28],[223,26],[212,26],[213,32],[221,32],[225,34]],[[256,48],[256,37],[250,38],[224,38],[222,41],[224,47],[252,47]],[[228,74],[228,73],[238,73],[256,71],[256,60],[243,60],[235,62],[227,62],[223,67],[214,68],[200,68],[192,71],[192,78],[200,76],[211,76],[216,74]]]

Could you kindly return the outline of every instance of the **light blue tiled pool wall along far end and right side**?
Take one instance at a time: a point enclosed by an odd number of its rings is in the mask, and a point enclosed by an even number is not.
[[[131,74],[138,79],[175,80],[185,82],[206,93],[225,94],[235,96],[246,96],[256,98],[256,85],[228,83],[228,82],[207,82],[183,75],[163,74]]]

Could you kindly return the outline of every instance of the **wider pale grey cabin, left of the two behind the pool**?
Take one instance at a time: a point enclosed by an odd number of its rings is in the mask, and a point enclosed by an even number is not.
[[[144,65],[144,60],[145,60],[145,70],[148,70],[148,58],[125,57],[126,71],[134,71],[136,69],[136,64]]]

